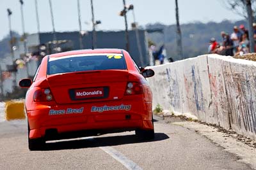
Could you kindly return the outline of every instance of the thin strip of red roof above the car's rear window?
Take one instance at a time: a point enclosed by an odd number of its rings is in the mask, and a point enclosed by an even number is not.
[[[55,57],[63,57],[67,55],[79,55],[79,54],[85,54],[85,53],[122,53],[122,49],[114,49],[114,48],[101,48],[101,49],[89,49],[89,50],[73,50],[69,52],[61,52],[61,53],[54,53],[49,55],[51,58]]]

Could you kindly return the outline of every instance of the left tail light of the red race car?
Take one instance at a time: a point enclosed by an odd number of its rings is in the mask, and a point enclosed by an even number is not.
[[[42,101],[52,101],[53,96],[50,89],[39,89],[36,90],[33,96],[33,101],[42,102]]]

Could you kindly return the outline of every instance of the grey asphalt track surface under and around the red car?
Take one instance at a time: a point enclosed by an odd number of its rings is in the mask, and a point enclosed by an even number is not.
[[[26,120],[0,123],[0,169],[250,169],[211,140],[179,125],[155,122],[156,139],[134,132],[47,143],[28,150]]]

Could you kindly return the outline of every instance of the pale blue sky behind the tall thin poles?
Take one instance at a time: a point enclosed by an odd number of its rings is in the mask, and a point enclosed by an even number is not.
[[[25,31],[37,32],[35,0],[24,1]],[[77,0],[51,0],[56,31],[79,30]],[[191,22],[221,22],[222,20],[241,20],[243,17],[227,9],[225,0],[179,0],[180,24]],[[37,0],[41,32],[52,31],[51,13],[48,0]],[[82,30],[92,31],[92,11],[90,0],[79,0]],[[139,25],[160,22],[165,25],[175,24],[175,0],[126,0],[134,5],[136,22]],[[118,13],[123,9],[122,0],[93,0],[95,20],[102,24],[97,30],[124,30],[124,17]],[[0,0],[0,40],[9,33],[6,9],[12,10],[12,30],[22,34],[19,0]],[[132,11],[127,13],[129,28],[133,22]]]

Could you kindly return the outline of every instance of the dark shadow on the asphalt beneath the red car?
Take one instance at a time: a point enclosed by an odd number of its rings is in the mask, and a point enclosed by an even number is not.
[[[95,137],[85,139],[74,139],[72,141],[57,141],[54,143],[46,143],[43,150],[70,150],[81,148],[97,148],[101,146],[116,146],[127,145],[132,143],[145,143],[154,141],[163,141],[168,139],[164,133],[155,133],[155,138],[151,140],[143,140],[138,138],[135,134],[125,136],[108,136],[108,137]]]

